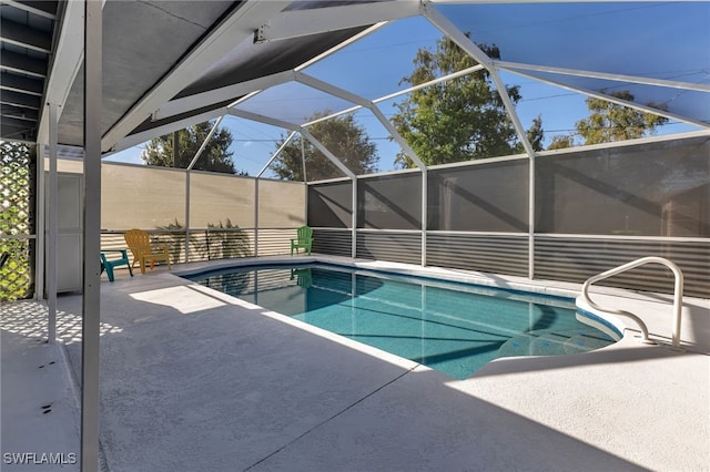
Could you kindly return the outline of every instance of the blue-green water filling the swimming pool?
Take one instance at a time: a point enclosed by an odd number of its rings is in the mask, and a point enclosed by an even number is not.
[[[187,277],[270,310],[465,379],[506,356],[584,352],[608,335],[572,300],[329,265],[230,268]]]

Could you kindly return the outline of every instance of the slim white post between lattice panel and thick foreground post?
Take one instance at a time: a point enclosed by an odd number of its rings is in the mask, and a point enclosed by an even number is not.
[[[49,327],[47,332],[47,342],[54,343],[57,339],[57,239],[59,234],[59,183],[57,176],[57,105],[49,103],[49,198],[48,202],[48,215],[49,215],[49,245],[47,252],[47,291],[48,291],[48,308],[49,308]],[[44,155],[42,154],[42,160]]]

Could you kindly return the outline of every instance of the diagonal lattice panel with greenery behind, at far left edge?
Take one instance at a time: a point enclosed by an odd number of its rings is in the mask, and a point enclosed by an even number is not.
[[[32,296],[32,151],[21,143],[0,143],[0,301]],[[9,236],[12,236],[10,238]]]

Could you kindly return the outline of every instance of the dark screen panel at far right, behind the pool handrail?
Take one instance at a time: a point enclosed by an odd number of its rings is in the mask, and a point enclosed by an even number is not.
[[[710,138],[536,160],[536,232],[710,236]]]

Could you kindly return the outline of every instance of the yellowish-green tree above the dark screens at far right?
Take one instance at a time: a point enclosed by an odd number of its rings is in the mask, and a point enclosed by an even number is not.
[[[633,102],[635,99],[628,90],[612,92],[609,95],[627,102]],[[655,134],[657,126],[668,122],[667,117],[640,112],[602,99],[589,96],[585,103],[587,103],[589,116],[575,123],[576,131],[572,134],[554,136],[548,146],[549,150],[572,147],[577,136],[585,145],[635,140]],[[655,103],[648,103],[647,106],[665,109]]]

